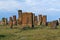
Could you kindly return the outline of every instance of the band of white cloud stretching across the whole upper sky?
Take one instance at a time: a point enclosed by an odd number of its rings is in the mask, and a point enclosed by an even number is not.
[[[28,9],[29,8],[29,9]],[[0,1],[0,10],[24,9],[29,11],[60,11],[59,0],[25,0],[18,2],[17,0]]]

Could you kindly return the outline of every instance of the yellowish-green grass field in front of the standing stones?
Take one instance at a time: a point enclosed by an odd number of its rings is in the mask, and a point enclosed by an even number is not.
[[[19,27],[19,26],[17,26]],[[60,40],[60,27],[35,27],[34,29],[11,29],[9,26],[0,26],[0,40]]]

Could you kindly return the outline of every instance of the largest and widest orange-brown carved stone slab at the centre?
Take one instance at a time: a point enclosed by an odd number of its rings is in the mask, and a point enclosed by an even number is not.
[[[29,26],[33,28],[33,13],[31,12],[24,12],[22,13],[22,27]]]

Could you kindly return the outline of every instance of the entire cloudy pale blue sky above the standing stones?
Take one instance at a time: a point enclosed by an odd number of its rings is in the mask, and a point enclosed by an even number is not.
[[[0,0],[0,19],[16,15],[18,10],[47,15],[47,21],[60,18],[60,0]]]

